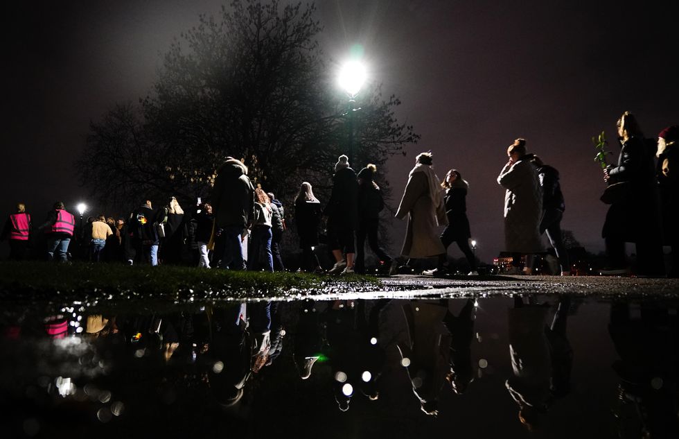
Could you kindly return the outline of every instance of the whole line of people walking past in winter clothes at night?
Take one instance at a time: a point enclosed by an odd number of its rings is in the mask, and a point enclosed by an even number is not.
[[[660,132],[658,140],[646,139],[630,112],[617,122],[621,150],[617,164],[603,169],[608,184],[605,203],[610,204],[602,237],[610,267],[603,274],[630,273],[625,243],[635,243],[638,275],[665,275],[662,246],[671,247],[670,275],[679,269],[679,218],[677,181],[673,167],[679,127]],[[554,248],[562,275],[570,274],[563,244],[561,220],[565,211],[558,171],[529,153],[525,139],[515,139],[497,183],[506,189],[504,203],[504,251],[511,256],[509,274],[531,274],[534,257],[544,251],[542,235]],[[658,159],[656,164],[655,158]],[[398,264],[380,243],[380,214],[385,207],[376,183],[377,167],[367,164],[358,174],[349,157],[335,164],[330,199],[321,209],[312,186],[303,182],[294,198],[294,223],[301,250],[299,269],[322,272],[316,248],[319,229],[326,220],[324,241],[335,263],[331,274],[365,273],[365,241],[389,274]],[[460,171],[450,169],[441,182],[433,169],[432,153],[421,153],[408,175],[396,218],[407,218],[407,232],[400,255],[410,259],[437,258],[437,267],[425,275],[448,271],[451,243],[464,254],[469,275],[477,275],[477,261],[469,246],[466,215],[469,184]],[[439,227],[445,226],[439,234]],[[46,222],[35,226],[24,204],[17,205],[2,232],[10,243],[10,259],[25,259],[31,231],[46,239],[47,259],[67,260],[76,230],[73,214],[62,202],[55,203]],[[197,203],[189,212],[170,197],[166,206],[153,209],[145,200],[128,218],[88,218],[80,233],[91,261],[146,261],[159,264],[195,264],[232,270],[285,270],[281,239],[286,230],[285,209],[273,193],[254,187],[243,162],[227,157],[215,178],[211,203]],[[247,242],[247,245],[245,243]],[[406,262],[406,266],[408,262]]]

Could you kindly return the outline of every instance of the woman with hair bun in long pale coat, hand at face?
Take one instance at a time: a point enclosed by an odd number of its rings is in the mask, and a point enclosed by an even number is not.
[[[523,273],[532,273],[532,255],[543,250],[540,220],[543,216],[543,190],[526,152],[526,140],[516,139],[507,148],[509,161],[504,165],[497,184],[504,193],[504,250],[513,259],[509,274],[520,274],[522,255],[527,255]]]

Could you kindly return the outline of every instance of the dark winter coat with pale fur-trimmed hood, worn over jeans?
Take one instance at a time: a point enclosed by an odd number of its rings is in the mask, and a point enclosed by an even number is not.
[[[227,160],[219,169],[212,188],[212,209],[218,227],[247,227],[254,215],[254,187],[247,168],[238,160]]]

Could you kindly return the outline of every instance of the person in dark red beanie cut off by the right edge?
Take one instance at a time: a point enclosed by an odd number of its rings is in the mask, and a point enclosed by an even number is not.
[[[658,166],[664,244],[672,249],[670,277],[679,277],[679,126],[665,128],[658,135]]]

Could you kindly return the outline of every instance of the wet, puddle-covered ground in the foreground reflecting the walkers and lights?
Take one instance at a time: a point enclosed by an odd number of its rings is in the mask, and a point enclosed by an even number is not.
[[[679,437],[675,280],[382,282],[3,300],[1,437]]]

